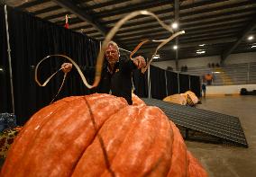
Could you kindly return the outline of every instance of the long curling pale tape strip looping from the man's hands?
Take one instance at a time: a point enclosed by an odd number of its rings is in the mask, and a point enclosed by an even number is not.
[[[75,67],[76,69],[78,70],[78,74],[80,75],[83,83],[87,86],[88,89],[91,89],[91,88],[94,88],[96,87],[99,82],[100,82],[100,79],[101,79],[101,73],[102,73],[102,66],[103,66],[103,62],[104,62],[104,53],[105,53],[105,49],[107,48],[107,44],[113,39],[114,37],[114,34],[122,27],[123,23],[124,22],[127,22],[128,20],[138,16],[138,15],[149,15],[149,16],[152,16],[153,18],[155,18],[159,23],[160,25],[166,29],[167,31],[169,31],[171,33],[170,37],[168,39],[164,39],[164,40],[143,40],[142,42],[140,42],[137,47],[135,49],[133,49],[133,52],[131,53],[130,55],[130,58],[133,59],[133,55],[137,52],[138,49],[140,49],[142,47],[143,44],[145,44],[146,42],[149,42],[149,41],[152,41],[152,42],[160,42],[160,45],[157,47],[157,49],[155,49],[154,51],[154,54],[152,55],[150,61],[147,63],[147,66],[145,66],[144,68],[142,68],[142,73],[145,73],[145,71],[148,69],[148,67],[151,65],[151,62],[154,58],[154,56],[157,54],[158,50],[163,47],[165,44],[167,44],[170,40],[173,40],[174,38],[176,38],[178,35],[180,34],[183,34],[185,33],[185,31],[178,31],[176,33],[173,34],[173,30],[171,29],[171,27],[167,24],[165,24],[164,22],[162,22],[160,20],[160,18],[154,14],[154,13],[151,13],[149,11],[135,11],[133,13],[129,13],[128,15],[126,15],[125,17],[123,17],[123,19],[121,19],[119,22],[117,22],[114,27],[111,29],[111,31],[109,31],[107,33],[107,35],[105,36],[105,40],[103,41],[103,44],[102,44],[102,48],[96,58],[96,75],[95,75],[95,80],[94,80],[94,83],[93,84],[88,84],[87,83],[87,79],[85,77],[85,75],[83,75],[82,71],[80,70],[80,68],[78,67],[78,65],[76,64],[76,62],[65,56],[65,55],[50,55],[50,56],[47,56],[46,58],[43,58],[41,59],[41,61],[37,64],[36,68],[35,68],[35,81],[37,84],[39,84],[40,86],[45,86],[46,84],[48,84],[48,82],[50,81],[50,79],[56,75],[62,68],[60,68],[57,72],[55,72],[53,75],[50,75],[50,77],[43,83],[41,84],[38,80],[38,73],[37,73],[37,69],[38,69],[38,66],[41,64],[42,61],[46,60],[47,58],[50,58],[50,57],[60,57],[60,58],[66,58],[68,59]],[[59,88],[59,92],[62,88],[62,85],[64,84],[65,82],[65,78],[66,78],[66,75],[67,73],[65,73],[64,75],[64,78],[63,78],[63,81],[62,81],[62,84]],[[59,92],[57,93],[57,95],[59,94]],[[54,99],[57,97],[57,95],[54,97]],[[53,99],[53,100],[54,100]],[[51,102],[53,102],[53,100]]]

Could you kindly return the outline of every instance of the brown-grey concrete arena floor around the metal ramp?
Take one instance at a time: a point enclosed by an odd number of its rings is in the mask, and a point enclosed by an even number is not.
[[[249,148],[186,141],[210,177],[256,176],[256,96],[206,97],[197,108],[239,117]]]

